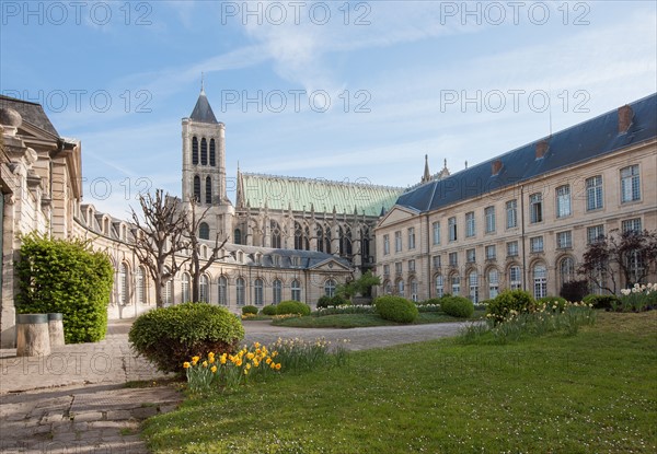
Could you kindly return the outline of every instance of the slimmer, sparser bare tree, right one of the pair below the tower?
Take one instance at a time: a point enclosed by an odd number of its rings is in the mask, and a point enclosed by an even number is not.
[[[222,258],[226,258],[226,255],[220,255],[223,246],[228,242],[228,236],[219,243],[219,238],[221,236],[221,232],[217,230],[217,234],[215,236],[215,244],[211,248],[211,254],[209,254],[205,260],[205,265],[200,265],[200,241],[199,241],[199,229],[200,224],[205,220],[208,210],[210,207],[206,208],[199,216],[196,214],[196,210],[198,208],[198,201],[195,198],[189,198],[189,218],[188,222],[185,225],[184,236],[186,243],[188,245],[188,249],[191,253],[189,256],[189,272],[192,273],[192,301],[198,302],[200,301],[199,295],[199,283],[200,277],[203,273],[216,261]]]

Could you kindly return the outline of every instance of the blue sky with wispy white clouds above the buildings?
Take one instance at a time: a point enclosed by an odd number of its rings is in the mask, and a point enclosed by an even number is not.
[[[200,89],[244,172],[417,183],[657,91],[653,1],[0,2],[0,91],[82,141],[84,201],[181,193]],[[231,195],[231,198],[234,197]]]

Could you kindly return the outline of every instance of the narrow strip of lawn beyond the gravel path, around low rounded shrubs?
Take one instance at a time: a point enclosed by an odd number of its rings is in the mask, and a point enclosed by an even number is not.
[[[484,313],[485,311],[475,311],[473,317],[470,319],[480,319]],[[463,322],[463,318],[452,317],[442,312],[420,312],[414,325],[445,322]],[[383,319],[377,314],[334,314],[322,315],[321,317],[310,315],[306,317],[284,318],[273,321],[272,325],[293,328],[358,328],[367,326],[397,326],[403,324]]]

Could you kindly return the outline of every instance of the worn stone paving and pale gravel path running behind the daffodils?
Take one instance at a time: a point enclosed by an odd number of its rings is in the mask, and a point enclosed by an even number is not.
[[[176,408],[180,392],[157,385],[168,375],[136,358],[131,319],[111,321],[105,340],[56,348],[47,357],[16,358],[0,350],[0,453],[148,453],[140,422]],[[461,324],[308,329],[246,322],[244,344],[325,338],[349,350],[418,342],[454,335]],[[131,388],[134,381],[155,382]],[[150,383],[149,383],[150,384]]]

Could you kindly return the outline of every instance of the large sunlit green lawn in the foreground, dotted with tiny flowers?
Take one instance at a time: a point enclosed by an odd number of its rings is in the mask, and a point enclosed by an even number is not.
[[[187,399],[143,433],[157,453],[657,452],[657,311],[600,313],[574,337],[349,358]]]

